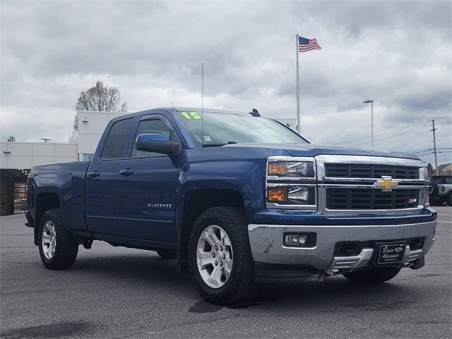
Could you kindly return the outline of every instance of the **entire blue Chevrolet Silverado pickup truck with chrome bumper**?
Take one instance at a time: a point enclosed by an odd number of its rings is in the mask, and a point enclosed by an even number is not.
[[[311,145],[256,111],[161,108],[109,122],[91,162],[33,167],[27,226],[51,270],[94,240],[177,258],[208,302],[256,283],[383,283],[435,239],[415,155]]]

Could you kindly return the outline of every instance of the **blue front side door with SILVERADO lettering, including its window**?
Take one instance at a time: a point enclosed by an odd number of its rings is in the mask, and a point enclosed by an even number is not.
[[[129,158],[119,160],[117,228],[119,237],[177,242],[175,210],[179,156],[136,150],[136,138],[159,133],[179,141],[160,114],[141,117]]]

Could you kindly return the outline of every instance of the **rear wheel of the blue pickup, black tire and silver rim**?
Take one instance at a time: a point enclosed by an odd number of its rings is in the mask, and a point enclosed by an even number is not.
[[[44,213],[39,232],[39,249],[42,263],[49,270],[69,268],[76,261],[78,242],[64,229],[59,210],[47,210]]]

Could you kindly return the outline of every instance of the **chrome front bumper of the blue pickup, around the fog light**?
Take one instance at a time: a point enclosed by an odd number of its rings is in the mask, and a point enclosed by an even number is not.
[[[424,237],[422,249],[406,246],[403,263],[422,258],[434,243],[436,221],[404,225],[249,225],[248,234],[254,261],[260,263],[307,265],[317,270],[351,270],[369,266],[373,249],[357,256],[334,256],[338,242],[381,242]],[[285,247],[285,232],[316,233],[315,247]]]

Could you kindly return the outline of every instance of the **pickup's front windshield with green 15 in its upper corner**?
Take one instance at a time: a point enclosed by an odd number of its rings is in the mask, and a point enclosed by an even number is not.
[[[196,145],[200,147],[228,143],[307,143],[304,138],[272,119],[232,113],[180,112]]]

